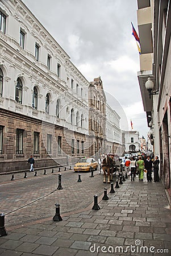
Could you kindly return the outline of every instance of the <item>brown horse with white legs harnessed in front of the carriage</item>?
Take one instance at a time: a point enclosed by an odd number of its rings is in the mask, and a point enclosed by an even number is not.
[[[106,172],[107,172],[107,183],[112,181],[112,174],[114,171],[114,158],[112,156],[106,156],[102,161],[102,170],[103,170],[103,183],[106,183]]]

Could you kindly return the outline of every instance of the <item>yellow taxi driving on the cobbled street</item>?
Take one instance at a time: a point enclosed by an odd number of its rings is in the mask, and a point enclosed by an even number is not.
[[[94,158],[81,158],[78,163],[74,164],[74,171],[91,171],[91,167],[94,170],[98,168],[98,162]]]

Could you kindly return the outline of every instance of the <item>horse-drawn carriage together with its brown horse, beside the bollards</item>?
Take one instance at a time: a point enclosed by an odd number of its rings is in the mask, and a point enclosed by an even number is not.
[[[102,170],[103,170],[103,183],[106,183],[106,173],[107,173],[107,183],[112,181],[113,175],[118,172],[123,172],[123,165],[120,162],[118,156],[114,154],[107,154],[102,160]],[[119,175],[119,174],[118,174]]]

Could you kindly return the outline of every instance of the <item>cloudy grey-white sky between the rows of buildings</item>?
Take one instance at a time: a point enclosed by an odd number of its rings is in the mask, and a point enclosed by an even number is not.
[[[139,52],[136,0],[23,0],[68,53],[88,81],[101,76],[109,104],[121,118],[121,128],[147,138],[147,121],[137,71]],[[138,31],[137,31],[138,32]]]

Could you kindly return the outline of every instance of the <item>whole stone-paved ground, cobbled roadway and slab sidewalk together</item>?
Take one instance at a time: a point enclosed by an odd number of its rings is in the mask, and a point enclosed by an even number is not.
[[[128,177],[109,193],[110,184],[103,184],[98,171],[94,177],[81,173],[78,183],[78,174],[70,170],[61,172],[59,191],[58,174],[41,171],[38,177],[29,173],[28,179],[16,174],[15,181],[1,176],[8,235],[0,238],[0,255],[171,255],[171,212],[161,182]],[[109,200],[102,200],[105,187]],[[99,210],[91,209],[95,194]],[[59,222],[52,220],[57,202]]]

